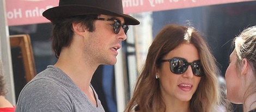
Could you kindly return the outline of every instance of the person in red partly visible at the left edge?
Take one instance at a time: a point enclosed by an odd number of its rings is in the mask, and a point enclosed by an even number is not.
[[[7,99],[5,99],[4,96],[6,93],[7,90],[5,89],[2,63],[0,61],[0,112],[13,112],[15,108]]]

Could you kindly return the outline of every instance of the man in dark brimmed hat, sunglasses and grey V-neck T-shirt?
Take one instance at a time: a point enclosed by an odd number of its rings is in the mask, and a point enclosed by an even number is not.
[[[21,91],[16,111],[104,111],[93,86],[99,65],[117,62],[127,25],[121,0],[60,0],[43,14],[53,23],[57,63],[37,74]]]

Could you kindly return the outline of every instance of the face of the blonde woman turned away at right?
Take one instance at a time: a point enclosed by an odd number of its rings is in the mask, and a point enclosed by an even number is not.
[[[240,104],[242,103],[242,91],[241,91],[241,80],[239,74],[237,73],[238,68],[236,68],[236,57],[235,51],[233,51],[229,56],[229,66],[225,73],[225,81],[227,86],[227,99],[230,102]]]

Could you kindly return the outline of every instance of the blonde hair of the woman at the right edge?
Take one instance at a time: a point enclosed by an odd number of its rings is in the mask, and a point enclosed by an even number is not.
[[[252,67],[252,71],[254,74],[254,80],[250,86],[247,88],[245,95],[243,96],[246,99],[248,96],[254,94],[256,92],[256,26],[248,27],[243,30],[239,36],[234,39],[235,45],[235,56],[236,56],[236,68],[237,71],[241,70],[242,59],[247,59],[249,64]],[[239,73],[239,72],[238,72]],[[256,99],[254,103],[256,102]],[[245,104],[245,101],[243,101]],[[245,105],[243,105],[245,107]]]

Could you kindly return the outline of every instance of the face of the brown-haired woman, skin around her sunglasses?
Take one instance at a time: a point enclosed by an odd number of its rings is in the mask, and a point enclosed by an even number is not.
[[[163,59],[171,58],[184,58],[191,63],[195,60],[199,60],[199,55],[196,47],[191,43],[182,43],[167,55]],[[182,74],[175,74],[170,71],[169,62],[161,63],[161,68],[158,70],[161,95],[164,100],[189,102],[194,92],[197,90],[197,86],[201,77],[194,76],[191,65]]]

